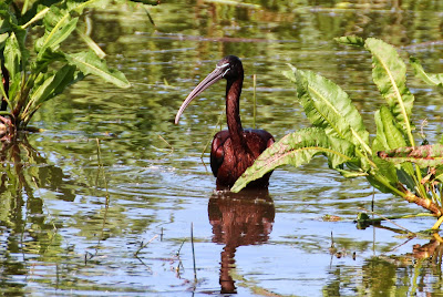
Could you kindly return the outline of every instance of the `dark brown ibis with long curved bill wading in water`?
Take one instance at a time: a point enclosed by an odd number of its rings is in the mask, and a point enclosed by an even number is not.
[[[210,167],[217,177],[217,188],[230,188],[237,178],[253,165],[254,161],[274,142],[265,130],[241,127],[240,94],[244,79],[240,59],[228,55],[222,59],[215,70],[207,75],[186,98],[175,116],[175,124],[189,102],[217,81],[226,79],[226,120],[228,130],[215,134],[210,147]],[[248,187],[267,187],[271,172],[251,182]]]

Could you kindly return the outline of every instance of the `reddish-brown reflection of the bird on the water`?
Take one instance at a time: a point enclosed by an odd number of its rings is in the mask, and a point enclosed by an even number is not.
[[[237,247],[266,243],[272,231],[276,211],[267,190],[241,193],[216,192],[209,198],[208,215],[213,242],[224,244],[222,252],[222,294],[236,293],[230,269]]]

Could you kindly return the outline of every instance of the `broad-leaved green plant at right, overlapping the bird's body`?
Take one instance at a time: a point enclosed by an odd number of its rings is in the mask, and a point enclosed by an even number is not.
[[[381,40],[358,37],[337,41],[364,47],[372,54],[372,79],[387,104],[374,114],[377,134],[370,142],[362,117],[348,94],[332,81],[290,65],[285,71],[297,88],[297,99],[312,126],[282,137],[266,150],[231,188],[238,192],[249,182],[278,166],[300,166],[316,155],[344,177],[365,176],[383,193],[392,193],[443,218],[443,146],[420,146],[412,131],[413,94],[406,86],[406,66],[395,49]],[[426,74],[411,59],[416,74],[434,85],[441,74]],[[434,225],[437,228],[441,221]]]

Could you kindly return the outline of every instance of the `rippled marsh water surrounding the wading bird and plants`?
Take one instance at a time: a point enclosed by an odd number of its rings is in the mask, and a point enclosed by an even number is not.
[[[373,133],[383,101],[370,55],[333,38],[377,37],[441,73],[442,1],[164,1],[147,9],[154,24],[141,6],[87,14],[93,39],[131,89],[87,78],[35,114],[32,125],[44,131],[3,144],[2,295],[443,294],[442,244],[405,232],[435,219],[358,226],[353,219],[372,204],[377,216],[422,209],[364,178],[346,180],[322,157],[276,170],[266,193],[216,193],[205,147],[226,126],[224,83],[173,123],[199,80],[235,54],[246,74],[244,126],[254,125],[254,74],[258,127],[278,140],[309,125],[281,75],[291,63],[340,84]],[[439,141],[443,93],[411,70],[409,86],[414,124],[426,120],[423,132]]]

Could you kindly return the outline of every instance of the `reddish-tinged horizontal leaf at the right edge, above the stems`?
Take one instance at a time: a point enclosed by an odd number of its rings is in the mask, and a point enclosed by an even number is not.
[[[394,164],[412,162],[420,167],[435,167],[443,164],[443,145],[434,144],[416,147],[399,147],[396,150],[379,152],[378,155]]]

